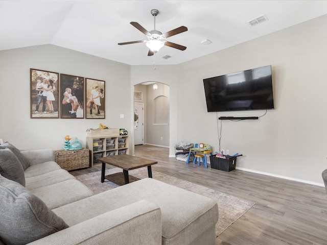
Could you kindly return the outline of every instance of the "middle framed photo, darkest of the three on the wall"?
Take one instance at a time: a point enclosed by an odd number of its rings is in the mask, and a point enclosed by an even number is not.
[[[60,74],[61,118],[84,118],[84,78]]]

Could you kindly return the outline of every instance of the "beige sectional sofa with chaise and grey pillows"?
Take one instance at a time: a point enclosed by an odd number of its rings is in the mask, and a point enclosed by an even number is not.
[[[151,178],[94,195],[54,162],[52,150],[17,152],[7,143],[24,169],[24,187],[1,171],[11,153],[0,146],[0,199],[7,203],[0,244],[215,244],[212,199]]]

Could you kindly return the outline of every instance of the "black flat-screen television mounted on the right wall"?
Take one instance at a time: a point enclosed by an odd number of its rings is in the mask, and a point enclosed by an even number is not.
[[[208,112],[274,109],[271,65],[203,79]]]

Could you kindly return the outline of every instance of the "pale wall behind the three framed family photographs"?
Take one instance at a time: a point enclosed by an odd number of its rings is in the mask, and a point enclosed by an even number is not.
[[[30,68],[106,81],[106,119],[31,119]],[[0,138],[20,150],[62,149],[65,135],[78,137],[86,147],[86,129],[99,128],[100,123],[130,130],[129,65],[40,45],[1,51],[0,74]]]

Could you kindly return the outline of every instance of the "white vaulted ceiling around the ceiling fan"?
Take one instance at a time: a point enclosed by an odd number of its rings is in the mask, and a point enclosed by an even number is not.
[[[148,56],[147,40],[130,22],[156,30],[188,31],[167,38]],[[327,14],[327,1],[0,1],[0,50],[54,44],[130,65],[179,64]],[[267,19],[250,26],[260,16]],[[303,33],[303,35],[306,35]],[[205,39],[211,44],[201,43]],[[170,56],[169,59],[162,57]]]

